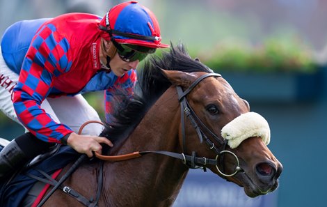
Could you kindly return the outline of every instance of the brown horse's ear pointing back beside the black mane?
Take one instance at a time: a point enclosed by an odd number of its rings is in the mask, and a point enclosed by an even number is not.
[[[196,79],[196,76],[189,72],[182,72],[178,70],[162,70],[162,74],[175,86],[182,86],[188,88],[190,84]]]

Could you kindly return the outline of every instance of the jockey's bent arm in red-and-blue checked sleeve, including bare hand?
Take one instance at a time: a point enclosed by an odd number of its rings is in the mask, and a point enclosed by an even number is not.
[[[42,33],[42,29],[40,33]],[[51,92],[54,78],[58,78],[65,72],[69,64],[65,61],[59,61],[59,64],[55,63],[54,61],[58,59],[56,54],[59,53],[54,50],[51,52],[55,59],[46,59],[47,47],[56,47],[55,45],[46,47],[39,37],[35,36],[32,40],[31,47],[22,64],[19,81],[13,92],[13,104],[19,121],[42,141],[63,143],[62,139],[66,137],[67,144],[79,153],[86,153],[89,157],[93,155],[92,151],[101,153],[99,143],[112,146],[111,141],[104,137],[77,135],[67,125],[54,121],[40,107]],[[54,38],[54,36],[50,34],[49,38]],[[56,41],[48,42],[48,44],[51,43],[56,43]]]

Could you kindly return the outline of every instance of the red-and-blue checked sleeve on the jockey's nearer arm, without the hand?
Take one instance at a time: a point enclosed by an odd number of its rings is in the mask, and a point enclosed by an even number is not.
[[[68,41],[56,32],[54,25],[42,26],[32,40],[14,89],[13,102],[19,121],[42,141],[60,143],[72,132],[40,107],[51,91],[53,79],[70,70],[69,50]]]

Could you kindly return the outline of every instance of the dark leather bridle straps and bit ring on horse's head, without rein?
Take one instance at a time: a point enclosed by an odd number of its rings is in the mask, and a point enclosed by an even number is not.
[[[234,176],[235,174],[237,174],[237,172],[241,171],[241,167],[239,167],[239,158],[237,158],[237,155],[232,153],[232,151],[225,150],[225,148],[228,144],[228,141],[227,140],[223,141],[222,138],[219,138],[214,132],[212,132],[212,130],[209,130],[209,128],[207,128],[207,126],[196,115],[196,113],[194,112],[194,110],[189,105],[189,102],[186,99],[186,95],[188,95],[193,90],[193,88],[196,85],[198,85],[199,82],[202,81],[202,79],[205,79],[207,77],[221,77],[221,75],[217,74],[217,73],[207,73],[205,75],[202,75],[202,76],[198,77],[198,79],[196,79],[196,81],[193,82],[191,84],[191,86],[189,86],[189,88],[186,89],[185,91],[182,90],[181,86],[176,87],[177,93],[178,93],[178,100],[180,101],[180,107],[181,107],[183,151],[186,152],[186,135],[185,135],[185,120],[184,120],[184,116],[186,116],[189,118],[191,124],[193,125],[193,128],[196,130],[198,137],[200,139],[200,143],[202,143],[202,141],[205,140],[205,143],[216,154],[216,159],[214,159],[214,162],[212,162],[212,163],[214,163],[218,172],[225,177]],[[209,135],[211,135],[211,137],[214,137],[214,140],[217,141],[221,145],[222,150],[219,150],[219,148],[214,145],[214,142],[211,141],[207,137],[207,135],[203,132],[203,130],[205,130],[205,132],[207,132]],[[231,155],[234,156],[235,160],[237,161],[237,166],[235,167],[235,171],[232,174],[224,174],[223,171],[221,169],[219,169],[219,167],[218,167],[219,160],[222,161],[221,163],[223,166],[223,157],[224,157],[225,153],[230,153]],[[193,152],[192,154],[195,154],[195,152]],[[220,159],[218,160],[218,158],[220,158]],[[204,159],[205,159],[205,164],[203,165],[203,167],[205,167],[207,160],[212,160],[212,159],[208,159],[208,158],[204,158]],[[194,164],[196,164],[196,163],[194,163]],[[194,166],[191,166],[191,167],[194,168]]]

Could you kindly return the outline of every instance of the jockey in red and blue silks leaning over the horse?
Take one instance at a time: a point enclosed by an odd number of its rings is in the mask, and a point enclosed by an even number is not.
[[[101,18],[68,13],[51,19],[24,20],[1,40],[0,109],[24,126],[0,152],[0,179],[54,144],[79,153],[102,153],[102,125],[78,135],[86,121],[100,121],[81,93],[104,91],[109,121],[113,90],[132,93],[136,67],[161,43],[154,14],[136,1],[120,3]]]

